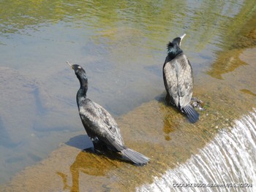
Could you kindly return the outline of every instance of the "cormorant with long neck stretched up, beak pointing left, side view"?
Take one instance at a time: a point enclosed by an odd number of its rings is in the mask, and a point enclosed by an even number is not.
[[[68,61],[67,64],[69,64]],[[147,164],[149,158],[124,145],[120,129],[110,113],[86,97],[88,80],[85,70],[77,64],[69,64],[69,66],[74,69],[80,82],[80,88],[77,93],[78,111],[83,126],[94,144],[94,148],[105,146],[109,150],[121,153],[134,164]]]

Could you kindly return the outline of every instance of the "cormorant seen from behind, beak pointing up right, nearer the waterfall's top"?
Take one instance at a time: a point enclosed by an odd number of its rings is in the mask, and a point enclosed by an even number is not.
[[[192,67],[180,47],[185,35],[176,37],[173,42],[167,44],[167,57],[162,72],[171,104],[184,112],[191,123],[195,123],[199,114],[190,104],[193,89]]]

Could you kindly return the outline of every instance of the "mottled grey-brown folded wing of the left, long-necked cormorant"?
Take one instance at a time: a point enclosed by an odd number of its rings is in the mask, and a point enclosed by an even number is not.
[[[102,106],[86,99],[79,107],[80,118],[89,132],[110,147],[120,151],[124,149],[124,141],[116,120]]]

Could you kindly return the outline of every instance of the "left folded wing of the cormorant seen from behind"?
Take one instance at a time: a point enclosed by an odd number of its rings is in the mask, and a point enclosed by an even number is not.
[[[163,77],[165,82],[165,89],[170,95],[170,98],[178,107],[178,79],[176,74],[176,67],[173,60],[168,61],[163,66]]]

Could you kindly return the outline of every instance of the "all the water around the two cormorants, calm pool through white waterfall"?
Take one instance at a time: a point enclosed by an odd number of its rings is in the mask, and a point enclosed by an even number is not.
[[[0,189],[255,191],[255,4],[1,1]],[[193,125],[163,102],[166,44],[184,33],[206,109]],[[150,164],[81,151],[91,143],[67,60],[86,69],[89,98]]]

